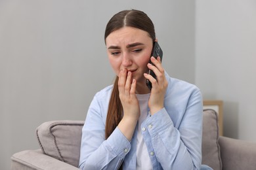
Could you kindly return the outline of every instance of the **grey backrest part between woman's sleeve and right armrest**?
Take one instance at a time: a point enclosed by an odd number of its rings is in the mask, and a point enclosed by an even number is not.
[[[203,110],[202,164],[222,169],[218,116],[211,109]]]

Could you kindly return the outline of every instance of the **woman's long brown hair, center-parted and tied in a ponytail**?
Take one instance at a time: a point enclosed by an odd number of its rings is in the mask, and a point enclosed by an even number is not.
[[[142,29],[143,31],[146,31],[148,35],[152,38],[152,42],[156,40],[156,34],[152,20],[150,20],[150,18],[144,12],[133,9],[122,10],[110,19],[110,21],[106,25],[104,36],[105,43],[106,37],[108,37],[110,33],[125,26]],[[114,129],[116,129],[117,125],[121,121],[122,112],[123,107],[119,98],[118,76],[116,76],[112,95],[110,97],[110,103],[108,105],[108,114],[105,127],[106,139],[108,139],[108,137],[111,135]]]

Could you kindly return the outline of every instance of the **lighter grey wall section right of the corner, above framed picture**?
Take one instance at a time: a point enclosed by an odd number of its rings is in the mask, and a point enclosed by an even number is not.
[[[224,135],[256,142],[256,1],[196,1],[196,84],[224,101]]]

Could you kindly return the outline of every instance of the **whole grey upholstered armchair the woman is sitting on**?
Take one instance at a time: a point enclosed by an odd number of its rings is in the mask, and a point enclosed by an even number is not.
[[[83,121],[45,122],[37,127],[41,149],[13,154],[11,169],[78,169]],[[255,169],[256,143],[219,136],[214,110],[203,111],[202,163],[215,170]]]

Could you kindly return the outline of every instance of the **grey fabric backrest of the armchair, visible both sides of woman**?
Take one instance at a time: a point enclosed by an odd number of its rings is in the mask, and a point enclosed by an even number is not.
[[[52,121],[37,127],[37,138],[43,152],[75,167],[79,163],[81,129],[84,122]],[[217,113],[203,112],[202,163],[213,169],[221,169]]]

